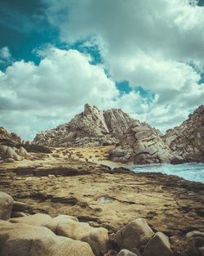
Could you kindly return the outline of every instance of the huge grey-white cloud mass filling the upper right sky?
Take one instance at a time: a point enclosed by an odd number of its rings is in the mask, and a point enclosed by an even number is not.
[[[118,99],[131,115],[164,130],[203,104],[204,7],[197,1],[44,2],[61,40],[69,45],[82,40],[86,46],[95,43],[114,81],[128,81],[133,94],[140,86],[149,96],[157,96],[151,104],[141,103],[143,112],[132,102],[135,95]],[[126,98],[128,107],[122,103]]]

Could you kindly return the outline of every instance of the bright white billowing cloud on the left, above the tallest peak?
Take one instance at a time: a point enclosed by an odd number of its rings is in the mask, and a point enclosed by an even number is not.
[[[113,80],[90,64],[90,56],[54,47],[39,54],[39,65],[16,61],[0,73],[0,119],[24,138],[67,122],[86,102],[104,106],[118,97]]]

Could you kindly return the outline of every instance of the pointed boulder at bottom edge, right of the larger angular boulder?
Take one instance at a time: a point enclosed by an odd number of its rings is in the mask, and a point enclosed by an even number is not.
[[[168,236],[157,232],[144,248],[143,256],[173,256]]]

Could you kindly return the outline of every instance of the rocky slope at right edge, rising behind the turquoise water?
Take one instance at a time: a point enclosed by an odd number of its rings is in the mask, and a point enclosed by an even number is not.
[[[180,126],[166,131],[164,141],[184,162],[204,163],[204,107],[199,106]]]

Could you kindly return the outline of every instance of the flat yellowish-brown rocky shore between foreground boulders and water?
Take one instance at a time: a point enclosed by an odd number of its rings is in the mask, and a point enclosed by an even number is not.
[[[38,155],[43,157],[42,165],[29,160],[26,167],[20,162],[5,163],[0,170],[0,191],[28,204],[26,214],[44,213],[51,218],[64,214],[106,229],[111,241],[107,255],[123,249],[115,244],[114,234],[143,218],[154,233],[169,237],[174,255],[202,255],[203,237],[188,239],[186,235],[204,232],[204,184],[162,173],[133,173],[79,159]]]

